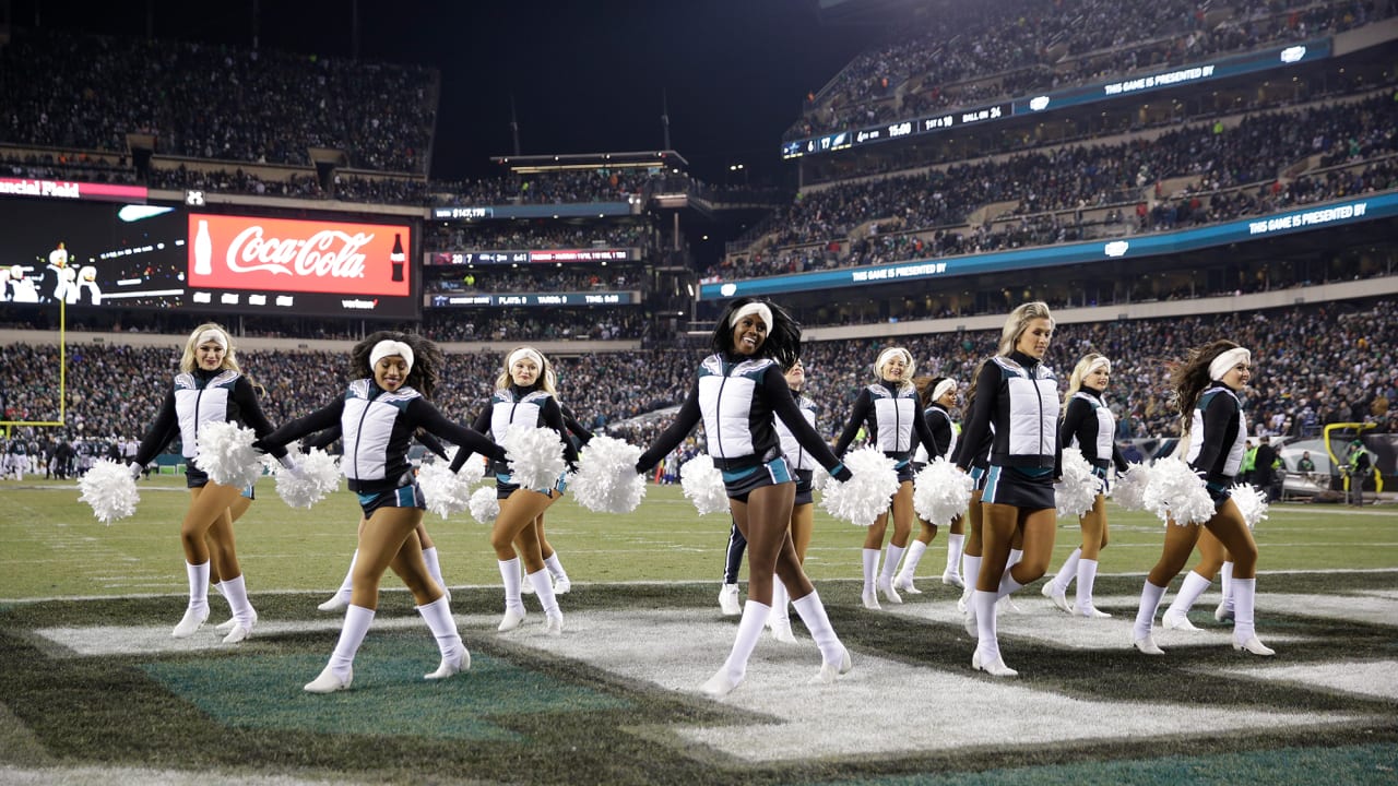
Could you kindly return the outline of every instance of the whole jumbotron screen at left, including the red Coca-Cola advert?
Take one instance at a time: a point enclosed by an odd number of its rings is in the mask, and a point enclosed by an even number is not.
[[[0,200],[0,301],[417,319],[414,228]]]

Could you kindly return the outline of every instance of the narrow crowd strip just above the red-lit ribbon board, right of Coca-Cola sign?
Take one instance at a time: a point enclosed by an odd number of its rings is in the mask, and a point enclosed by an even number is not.
[[[625,249],[647,245],[651,229],[633,222],[565,224],[561,221],[428,222],[422,245],[428,252]]]

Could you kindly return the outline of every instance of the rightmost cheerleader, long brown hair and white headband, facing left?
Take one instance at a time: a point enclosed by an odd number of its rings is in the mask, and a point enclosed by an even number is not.
[[[1269,656],[1275,650],[1257,638],[1253,620],[1257,593],[1257,543],[1229,496],[1229,487],[1243,466],[1247,418],[1237,394],[1253,378],[1253,355],[1233,341],[1219,340],[1190,352],[1170,375],[1180,403],[1180,448],[1184,460],[1213,498],[1213,516],[1204,524],[1165,527],[1165,550],[1141,589],[1131,639],[1146,655],[1165,655],[1151,635],[1155,611],[1170,580],[1184,568],[1199,534],[1208,530],[1233,557],[1233,649]],[[1191,573],[1194,576],[1195,573]],[[1194,582],[1199,582],[1194,579]],[[1187,585],[1190,578],[1187,578]],[[1184,590],[1181,590],[1184,592]],[[1202,590],[1201,590],[1202,592]]]

